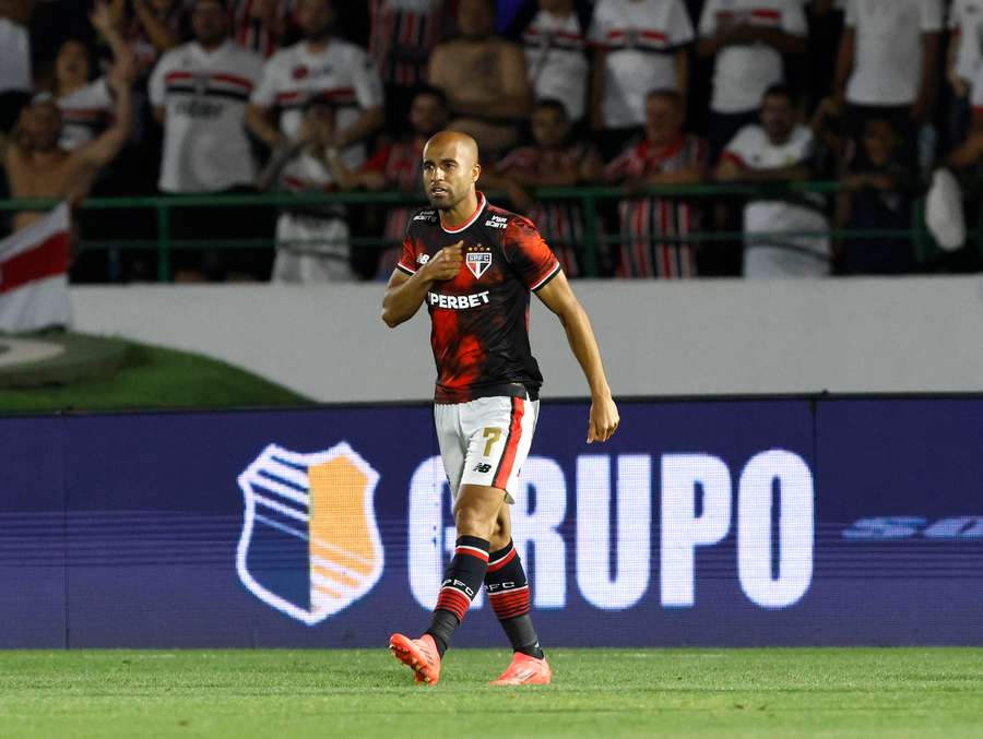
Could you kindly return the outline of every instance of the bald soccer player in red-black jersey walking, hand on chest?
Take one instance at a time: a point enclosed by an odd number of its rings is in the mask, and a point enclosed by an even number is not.
[[[543,382],[529,345],[530,293],[559,318],[591,390],[587,441],[607,441],[618,409],[587,313],[535,226],[475,190],[477,144],[441,131],[424,147],[433,207],[410,220],[403,255],[382,299],[390,327],[426,302],[437,362],[434,418],[454,498],[458,539],[430,627],[393,634],[393,655],[417,682],[435,684],[454,630],[485,584],[512,643],[511,665],[493,684],[545,684],[552,677],[529,613],[525,572],[511,539],[508,503],[529,454]]]

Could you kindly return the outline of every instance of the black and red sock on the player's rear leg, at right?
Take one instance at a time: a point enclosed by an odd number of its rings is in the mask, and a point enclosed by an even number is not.
[[[522,560],[511,540],[504,549],[489,555],[485,592],[512,648],[542,659],[540,637],[536,636],[529,615],[529,582],[525,580]]]

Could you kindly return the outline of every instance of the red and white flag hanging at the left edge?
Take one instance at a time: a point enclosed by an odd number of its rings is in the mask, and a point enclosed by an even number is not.
[[[0,241],[0,332],[67,326],[69,303],[67,203]]]

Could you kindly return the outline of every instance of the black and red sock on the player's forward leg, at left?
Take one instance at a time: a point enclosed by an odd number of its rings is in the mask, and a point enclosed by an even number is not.
[[[443,573],[443,584],[437,596],[437,608],[434,609],[430,628],[426,631],[434,637],[441,657],[482,586],[488,568],[490,546],[487,539],[476,536],[458,537],[454,556]]]

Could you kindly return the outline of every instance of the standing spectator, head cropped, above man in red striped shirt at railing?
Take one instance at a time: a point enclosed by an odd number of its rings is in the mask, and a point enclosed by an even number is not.
[[[652,90],[689,88],[687,45],[692,23],[682,0],[597,0],[590,39],[595,47],[591,128],[613,158],[646,121]]]

